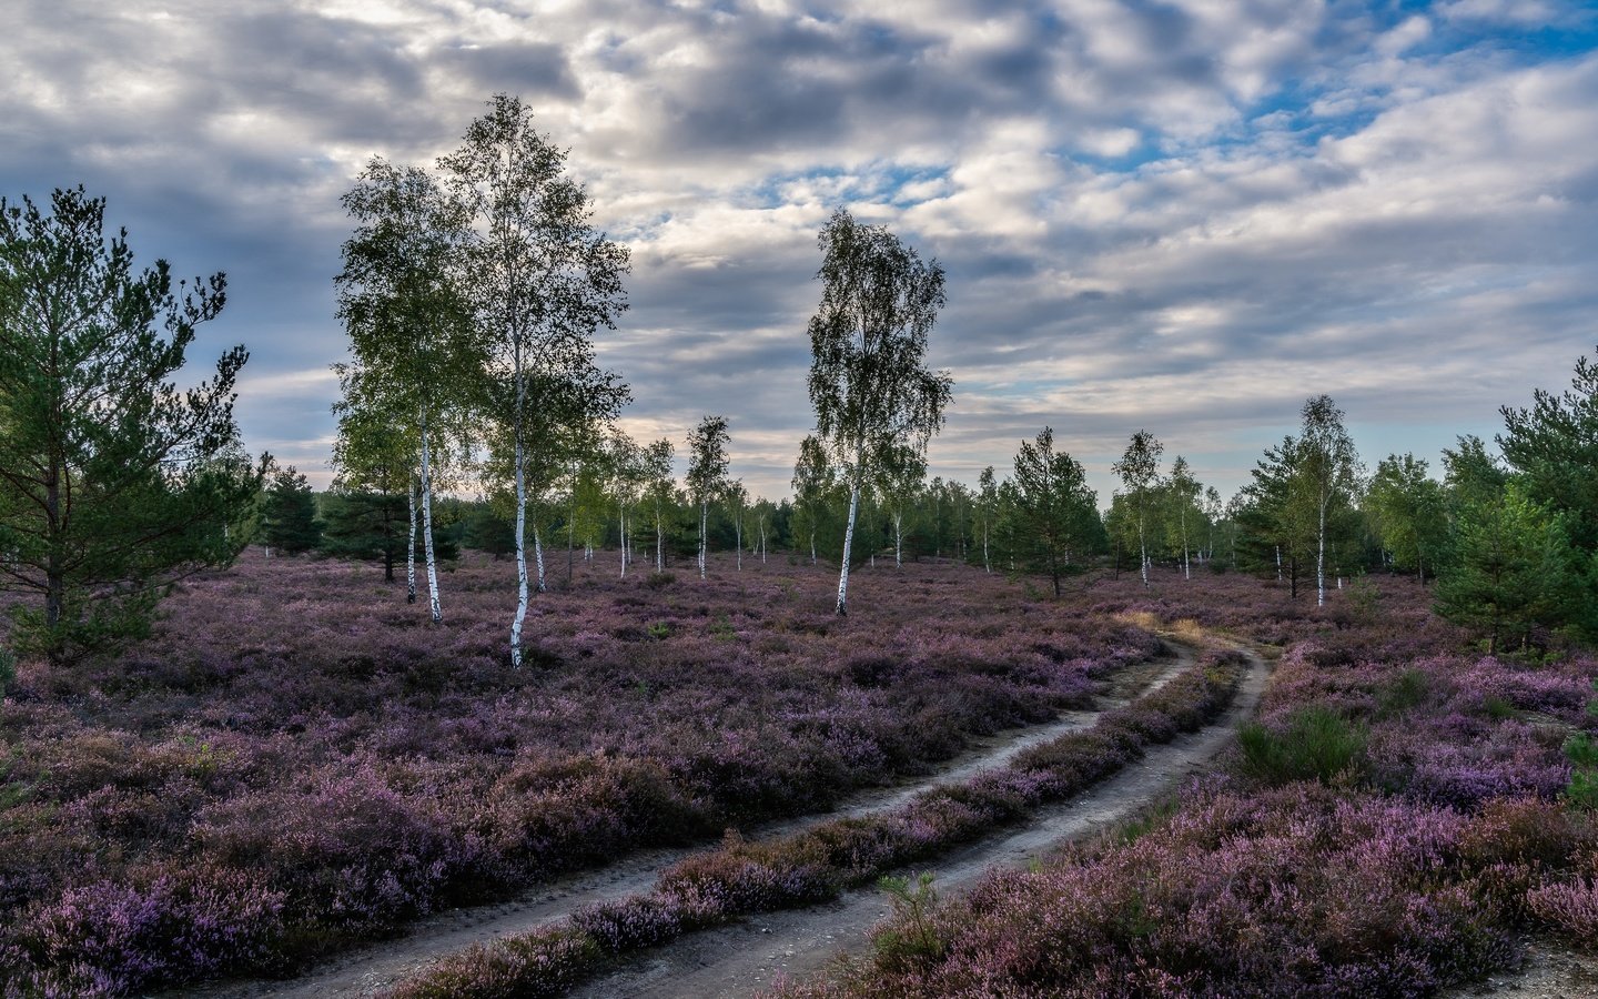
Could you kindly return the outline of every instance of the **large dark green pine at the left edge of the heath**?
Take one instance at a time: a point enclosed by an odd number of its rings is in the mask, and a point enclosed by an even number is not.
[[[229,564],[264,470],[233,420],[243,345],[173,380],[227,280],[134,270],[104,224],[81,187],[0,198],[0,588],[29,598],[0,603],[54,663],[145,633],[176,580]]]

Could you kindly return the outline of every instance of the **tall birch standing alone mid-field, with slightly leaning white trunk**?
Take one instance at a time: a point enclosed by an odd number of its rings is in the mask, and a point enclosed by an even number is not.
[[[817,438],[849,489],[837,614],[845,614],[860,494],[895,448],[925,452],[943,427],[954,379],[924,366],[944,305],[943,267],[844,209],[818,237],[821,304],[810,318]]]

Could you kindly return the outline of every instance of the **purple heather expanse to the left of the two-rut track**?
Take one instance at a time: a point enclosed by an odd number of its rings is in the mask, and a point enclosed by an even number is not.
[[[508,563],[449,572],[431,628],[369,567],[256,551],[117,660],[24,667],[0,710],[6,991],[289,973],[439,906],[925,772],[1160,651],[959,566],[865,569],[847,619],[826,567],[614,569],[537,598],[521,671]]]

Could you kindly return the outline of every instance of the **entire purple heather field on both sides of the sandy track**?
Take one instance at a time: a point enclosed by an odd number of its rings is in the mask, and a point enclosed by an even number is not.
[[[1219,716],[1262,670],[1238,647],[1275,665],[1214,774],[1047,863],[941,897],[906,882],[847,970],[778,994],[1422,996],[1513,969],[1528,933],[1598,941],[1598,834],[1563,751],[1598,730],[1598,662],[1485,657],[1413,580],[1323,609],[1208,571],[1079,579],[1055,601],[927,561],[863,567],[839,619],[825,566],[615,569],[599,553],[537,596],[521,671],[508,563],[449,572],[435,628],[369,567],[256,551],[187,583],[121,659],[26,665],[0,710],[6,996],[292,977],[430,913],[700,847],[396,994],[548,994],[620,969],[606,991],[633,954],[869,890],[1111,780]],[[825,815],[1104,706],[1168,655],[1168,628],[1191,652],[1157,691],[901,807]]]

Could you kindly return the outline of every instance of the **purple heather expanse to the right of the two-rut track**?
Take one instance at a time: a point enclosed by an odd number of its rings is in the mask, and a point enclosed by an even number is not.
[[[1253,580],[1096,593],[1285,649],[1222,770],[1050,863],[900,898],[845,972],[778,996],[1427,996],[1531,933],[1598,943],[1561,751],[1598,727],[1590,655],[1483,657],[1408,580],[1318,612]]]

